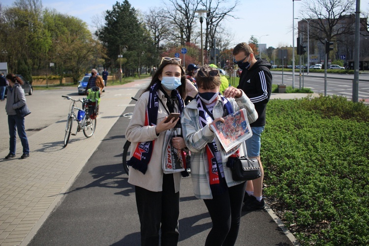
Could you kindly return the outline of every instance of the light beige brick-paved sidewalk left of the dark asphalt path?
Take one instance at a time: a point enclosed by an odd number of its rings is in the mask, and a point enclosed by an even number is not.
[[[49,125],[43,129],[28,133],[31,147],[31,157],[28,159],[20,159],[22,148],[19,139],[17,157],[14,159],[3,159],[2,156],[8,154],[8,149],[0,148],[1,246],[27,245],[30,242],[122,115],[131,96],[136,94],[140,85],[148,82],[148,79],[135,81],[119,86],[120,89],[116,91],[109,91],[108,87],[101,99],[101,114],[97,119],[94,136],[86,138],[79,132],[77,136],[71,136],[66,148],[63,148],[66,113],[51,116],[37,114],[36,112],[42,112],[45,104],[32,105],[34,113],[27,117],[27,122],[34,122],[37,127],[41,123],[47,124],[46,121],[53,123],[48,122]],[[272,94],[272,98],[282,99],[305,96],[307,94]],[[0,115],[4,118],[3,113]],[[3,123],[4,120],[0,122]],[[7,124],[3,124],[1,134],[7,134]],[[6,143],[2,144],[6,146]]]

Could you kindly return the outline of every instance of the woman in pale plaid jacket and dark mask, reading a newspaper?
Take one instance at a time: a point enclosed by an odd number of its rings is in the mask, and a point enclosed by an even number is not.
[[[222,160],[215,143],[215,133],[210,124],[222,117],[245,108],[247,119],[254,122],[257,113],[245,92],[234,87],[219,93],[219,70],[204,66],[196,75],[199,93],[183,111],[182,131],[187,148],[191,152],[191,179],[193,192],[204,203],[212,218],[213,228],[205,246],[233,246],[236,243],[241,208],[245,194],[245,181],[234,181],[232,171]],[[239,155],[246,154],[245,142],[240,145]]]

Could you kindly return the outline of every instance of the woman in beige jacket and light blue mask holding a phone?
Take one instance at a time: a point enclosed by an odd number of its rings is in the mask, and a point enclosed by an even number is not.
[[[150,85],[138,99],[125,137],[132,142],[128,183],[135,185],[141,223],[141,245],[178,244],[181,173],[164,174],[162,152],[167,130],[179,118],[166,122],[170,113],[184,108],[185,73],[179,58],[162,58]],[[175,137],[173,147],[184,149],[184,139]]]

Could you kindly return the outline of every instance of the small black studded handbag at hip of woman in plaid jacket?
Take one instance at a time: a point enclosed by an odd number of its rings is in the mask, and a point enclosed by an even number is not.
[[[255,180],[261,177],[260,163],[256,158],[229,157],[227,166],[232,170],[235,181]]]

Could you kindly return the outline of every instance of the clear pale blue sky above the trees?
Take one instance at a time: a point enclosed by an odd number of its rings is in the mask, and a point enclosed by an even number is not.
[[[163,5],[162,0],[128,1],[135,9],[142,12]],[[305,0],[295,1],[295,18],[300,17],[299,10],[303,1]],[[14,0],[1,0],[3,6],[10,6],[13,2]],[[111,9],[116,2],[117,0],[42,0],[44,7],[55,8],[61,13],[78,17],[90,26],[94,16]],[[240,0],[240,2],[237,11],[233,13],[239,19],[225,21],[229,32],[235,34],[232,44],[247,42],[250,36],[254,35],[262,36],[261,43],[266,43],[267,47],[292,45],[292,0]],[[369,0],[360,2],[361,11],[368,11]],[[297,22],[298,20],[295,20],[295,30]],[[268,36],[264,36],[267,34]],[[297,37],[297,31],[295,31],[295,37]]]

